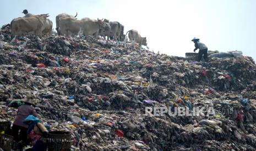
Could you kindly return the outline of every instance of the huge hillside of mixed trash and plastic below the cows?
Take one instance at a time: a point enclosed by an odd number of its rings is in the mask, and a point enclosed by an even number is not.
[[[31,91],[43,123],[72,132],[80,150],[256,149],[251,57],[188,62],[98,37],[12,40],[8,25],[1,30],[0,119],[13,121],[9,102]],[[195,106],[215,115],[145,114]]]

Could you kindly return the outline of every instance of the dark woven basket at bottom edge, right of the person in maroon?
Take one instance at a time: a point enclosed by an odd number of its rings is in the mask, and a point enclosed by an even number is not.
[[[71,133],[66,131],[52,131],[48,133],[48,150],[71,150]]]

